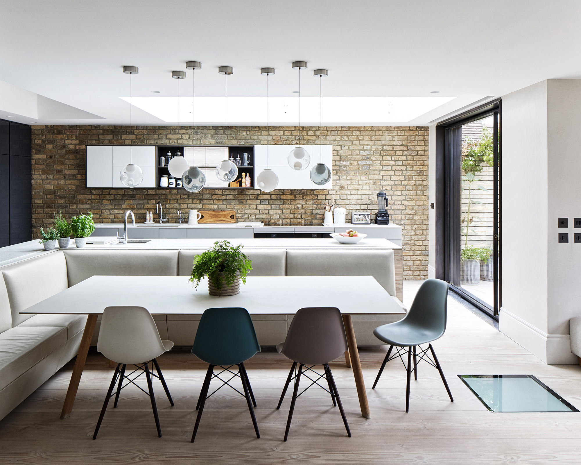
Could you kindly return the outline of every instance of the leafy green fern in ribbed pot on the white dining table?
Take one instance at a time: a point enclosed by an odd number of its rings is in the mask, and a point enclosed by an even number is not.
[[[216,241],[213,248],[193,258],[191,282],[196,288],[204,276],[208,277],[210,295],[236,295],[240,293],[240,281],[246,284],[252,260],[241,252],[242,245],[233,247],[228,241]]]

